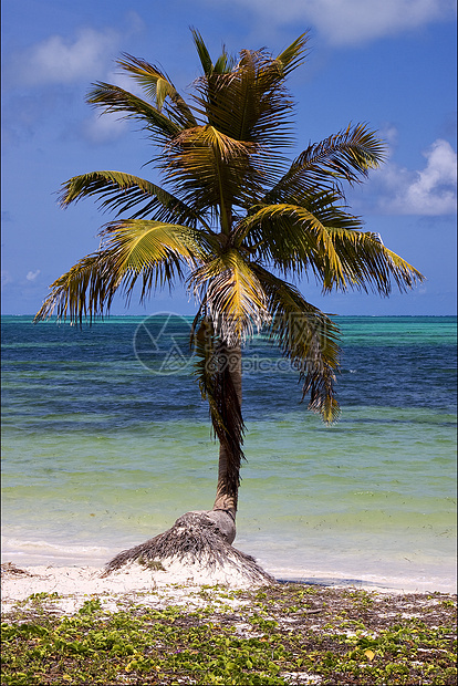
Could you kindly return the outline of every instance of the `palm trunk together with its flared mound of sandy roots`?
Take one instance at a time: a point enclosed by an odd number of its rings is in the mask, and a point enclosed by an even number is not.
[[[240,462],[243,457],[243,422],[241,416],[241,349],[219,343],[218,366],[214,376],[215,395],[211,419],[220,441],[218,486],[212,510],[196,510],[179,517],[174,526],[111,560],[104,575],[124,564],[165,564],[181,560],[201,583],[201,574],[222,574],[225,583],[268,585],[273,576],[254,558],[232,548],[236,538],[237,496],[240,484]],[[192,572],[194,570],[194,572]],[[221,576],[218,580],[220,581]],[[238,580],[238,581],[237,581]]]

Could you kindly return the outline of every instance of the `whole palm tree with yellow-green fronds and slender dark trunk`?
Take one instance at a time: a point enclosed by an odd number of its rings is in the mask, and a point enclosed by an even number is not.
[[[82,323],[107,313],[116,292],[128,300],[137,288],[143,302],[156,288],[186,282],[198,302],[196,373],[220,445],[217,496],[204,519],[229,545],[243,457],[247,336],[268,332],[298,368],[309,408],[331,423],[339,414],[339,329],[292,281],[313,276],[324,292],[387,295],[393,283],[407,290],[423,277],[348,212],[343,184],[361,183],[384,158],[384,143],[366,124],[310,144],[292,162],[284,157],[294,108],[285,81],[303,63],[306,34],[277,58],[262,49],[235,59],[223,49],[214,63],[191,32],[202,75],[189,102],[157,66],[125,53],[117,64],[143,97],[93,84],[89,103],[140,123],[164,185],[106,170],[63,184],[62,206],[94,197],[116,215],[101,230],[98,250],[54,281],[35,319],[55,313]],[[199,529],[204,519],[194,519]],[[170,531],[176,541],[177,528]],[[139,554],[166,555],[165,540],[123,553],[114,567]]]

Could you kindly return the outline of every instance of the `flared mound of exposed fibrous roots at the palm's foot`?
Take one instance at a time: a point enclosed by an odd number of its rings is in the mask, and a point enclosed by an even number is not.
[[[220,514],[221,512],[221,514]],[[177,571],[197,583],[270,585],[277,583],[252,558],[228,542],[227,513],[218,510],[186,512],[158,536],[124,550],[111,560],[104,576],[138,562],[155,571]],[[229,540],[233,540],[229,531]]]

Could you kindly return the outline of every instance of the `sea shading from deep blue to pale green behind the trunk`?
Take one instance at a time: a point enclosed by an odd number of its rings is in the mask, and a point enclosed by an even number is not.
[[[103,564],[211,507],[218,449],[189,323],[143,320],[2,318],[4,560]],[[281,578],[452,589],[456,318],[336,320],[332,427],[299,403],[296,373],[262,336],[246,351],[236,545]]]

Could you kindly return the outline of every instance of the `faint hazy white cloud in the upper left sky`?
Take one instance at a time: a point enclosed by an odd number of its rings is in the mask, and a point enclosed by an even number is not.
[[[119,37],[112,29],[81,29],[73,41],[51,35],[33,45],[15,65],[28,85],[65,84],[79,79],[96,79],[117,50]]]

